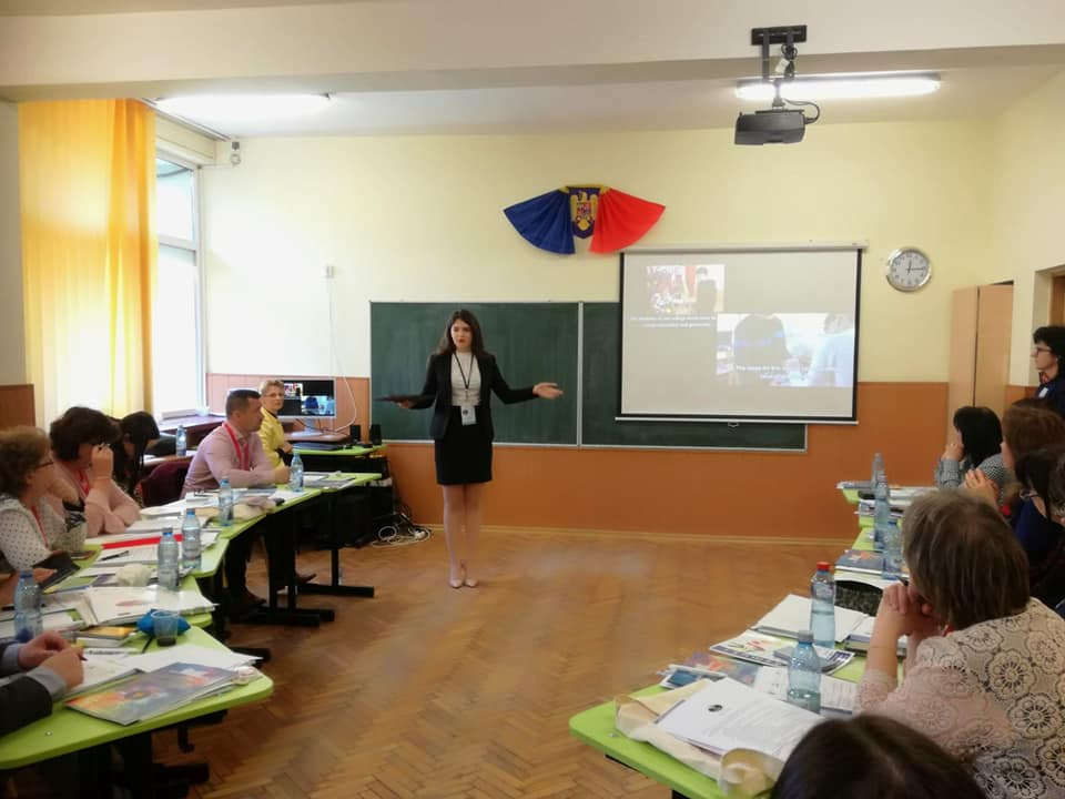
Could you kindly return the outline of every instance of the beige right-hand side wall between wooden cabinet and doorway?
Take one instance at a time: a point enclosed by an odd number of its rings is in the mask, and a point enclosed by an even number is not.
[[[995,123],[990,194],[996,267],[1014,280],[1010,382],[1036,385],[1032,331],[1049,315],[1049,274],[1065,270],[1065,72]]]

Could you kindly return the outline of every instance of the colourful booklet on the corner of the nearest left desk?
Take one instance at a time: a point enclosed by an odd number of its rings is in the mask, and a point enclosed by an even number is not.
[[[75,697],[67,707],[105,721],[131,725],[227,690],[235,676],[225,669],[178,663]]]

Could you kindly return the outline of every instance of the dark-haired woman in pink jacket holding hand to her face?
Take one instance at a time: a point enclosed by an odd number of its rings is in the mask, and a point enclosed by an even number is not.
[[[70,489],[73,502],[84,507],[90,537],[101,533],[122,533],[140,518],[133,498],[111,478],[114,455],[111,444],[121,431],[110,417],[92,408],[74,406],[52,422],[48,436],[60,479]],[[62,503],[52,507],[62,513]]]

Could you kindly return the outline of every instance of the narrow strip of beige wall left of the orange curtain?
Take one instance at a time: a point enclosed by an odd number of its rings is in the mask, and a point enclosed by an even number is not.
[[[26,381],[20,229],[19,114],[0,101],[0,385]]]

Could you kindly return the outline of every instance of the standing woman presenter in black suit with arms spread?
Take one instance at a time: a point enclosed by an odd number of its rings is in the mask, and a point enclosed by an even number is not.
[[[555,400],[555,383],[511,388],[496,358],[485,352],[477,317],[469,311],[452,314],[444,336],[429,356],[420,395],[403,398],[405,408],[433,406],[429,433],[436,451],[436,482],[444,489],[444,537],[450,564],[448,583],[474,588],[474,548],[480,532],[480,498],[491,479],[491,392],[507,403],[535,397]]]

